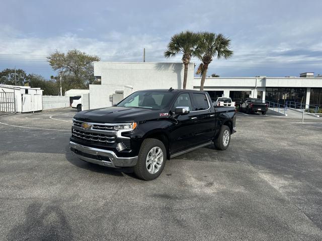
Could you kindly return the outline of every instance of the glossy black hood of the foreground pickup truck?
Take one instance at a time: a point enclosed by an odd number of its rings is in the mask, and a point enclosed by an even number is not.
[[[159,118],[163,110],[130,107],[108,107],[78,112],[74,118],[95,123],[121,123]]]

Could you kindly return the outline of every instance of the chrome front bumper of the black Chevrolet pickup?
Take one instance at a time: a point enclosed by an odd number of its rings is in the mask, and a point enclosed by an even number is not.
[[[118,157],[114,151],[88,147],[72,141],[69,141],[69,148],[71,153],[79,159],[105,167],[133,167],[137,162],[137,156]]]

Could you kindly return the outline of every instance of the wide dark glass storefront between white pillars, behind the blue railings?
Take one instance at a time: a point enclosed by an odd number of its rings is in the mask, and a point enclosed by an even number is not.
[[[285,105],[286,101],[305,103],[306,88],[266,88],[265,100]]]

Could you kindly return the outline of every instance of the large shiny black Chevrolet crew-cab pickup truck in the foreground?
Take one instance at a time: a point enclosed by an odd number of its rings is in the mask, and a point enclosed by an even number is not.
[[[214,108],[207,92],[138,91],[113,107],[73,118],[70,150],[86,162],[133,168],[157,178],[166,159],[214,143],[225,150],[235,132],[235,108]]]

